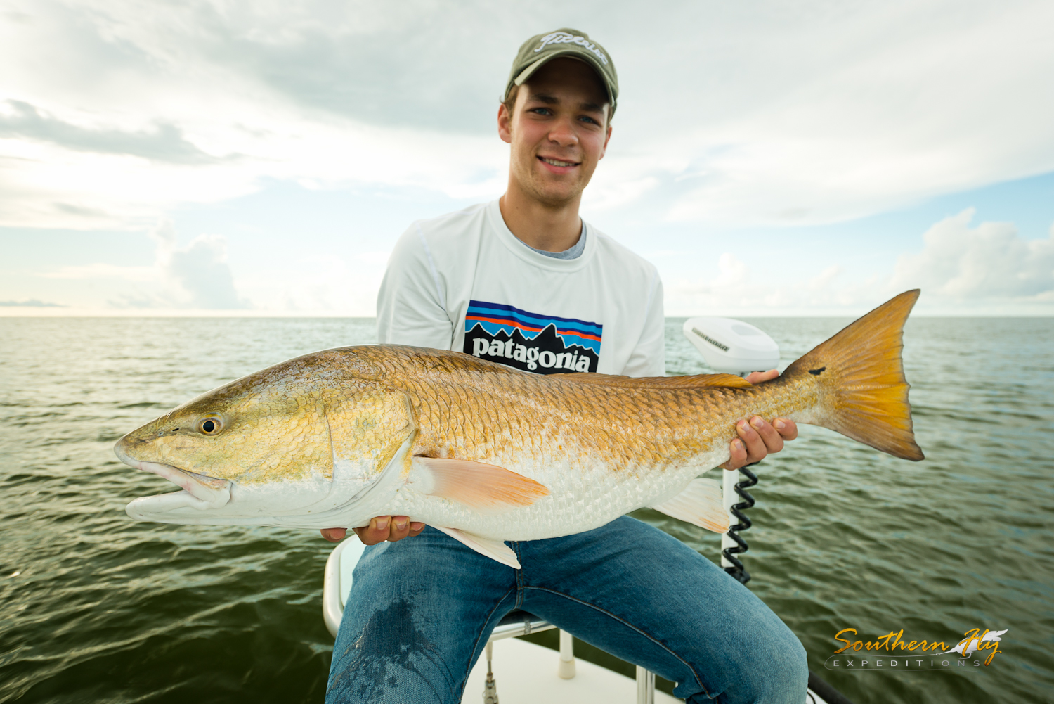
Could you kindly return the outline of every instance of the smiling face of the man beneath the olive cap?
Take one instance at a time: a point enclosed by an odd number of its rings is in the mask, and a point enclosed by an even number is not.
[[[558,58],[520,87],[497,132],[512,146],[510,178],[530,197],[561,207],[579,197],[604,157],[611,128],[607,92],[589,64]]]

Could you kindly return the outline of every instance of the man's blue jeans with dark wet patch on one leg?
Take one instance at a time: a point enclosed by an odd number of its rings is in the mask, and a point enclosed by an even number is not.
[[[509,541],[523,569],[426,528],[366,549],[333,647],[327,704],[456,704],[497,622],[523,609],[677,682],[688,702],[805,699],[805,650],[743,585],[623,516]]]

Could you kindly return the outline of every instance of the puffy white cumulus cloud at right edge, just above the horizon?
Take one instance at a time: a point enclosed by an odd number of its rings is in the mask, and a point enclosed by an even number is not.
[[[1054,225],[1047,240],[1022,240],[1013,223],[971,227],[974,209],[923,235],[917,254],[897,260],[891,288],[922,288],[954,302],[1054,303]]]

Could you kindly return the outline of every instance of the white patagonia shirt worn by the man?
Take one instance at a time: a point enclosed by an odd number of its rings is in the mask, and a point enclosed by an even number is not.
[[[497,201],[413,223],[377,297],[377,337],[535,374],[665,374],[655,266],[583,223],[575,259],[541,254]]]

